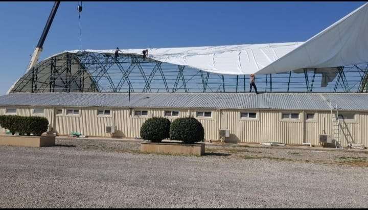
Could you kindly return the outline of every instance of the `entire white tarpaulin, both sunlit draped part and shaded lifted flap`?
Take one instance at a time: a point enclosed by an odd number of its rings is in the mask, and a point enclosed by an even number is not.
[[[151,59],[228,75],[274,74],[303,68],[324,68],[368,62],[368,3],[306,42],[148,49]],[[122,50],[143,55],[145,49]],[[79,53],[81,51],[64,51]],[[85,50],[114,53],[114,50]]]

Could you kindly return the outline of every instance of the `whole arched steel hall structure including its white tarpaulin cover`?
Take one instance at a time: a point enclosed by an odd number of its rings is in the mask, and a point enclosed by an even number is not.
[[[368,3],[305,42],[65,51],[38,63],[11,92],[367,91]],[[263,75],[262,75],[263,74]],[[316,88],[315,83],[320,83]],[[318,85],[317,85],[318,86]]]

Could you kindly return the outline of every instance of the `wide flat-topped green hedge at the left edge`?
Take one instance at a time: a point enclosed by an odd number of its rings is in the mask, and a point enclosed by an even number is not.
[[[17,115],[1,115],[0,126],[8,129],[12,135],[37,135],[40,136],[46,132],[49,126],[47,118],[40,116],[17,116]]]

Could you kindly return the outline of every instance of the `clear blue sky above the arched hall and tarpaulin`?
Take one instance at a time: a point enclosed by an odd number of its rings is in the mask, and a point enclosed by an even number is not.
[[[0,2],[0,94],[24,73],[53,2]],[[364,2],[83,2],[82,49],[305,41]],[[79,49],[78,2],[61,2],[40,59]]]

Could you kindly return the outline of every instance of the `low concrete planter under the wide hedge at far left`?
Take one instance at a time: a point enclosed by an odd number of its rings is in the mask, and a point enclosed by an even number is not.
[[[55,146],[55,136],[0,135],[0,145],[20,147]]]

